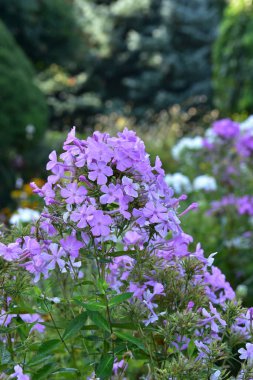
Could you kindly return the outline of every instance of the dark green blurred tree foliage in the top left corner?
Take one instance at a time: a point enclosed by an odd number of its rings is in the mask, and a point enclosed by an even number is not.
[[[85,43],[68,0],[0,1],[0,15],[39,69],[51,63],[74,69]]]

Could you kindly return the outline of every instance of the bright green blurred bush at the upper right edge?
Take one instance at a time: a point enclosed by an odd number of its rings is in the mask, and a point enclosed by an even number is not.
[[[253,106],[253,5],[231,1],[213,50],[214,100],[224,115]]]

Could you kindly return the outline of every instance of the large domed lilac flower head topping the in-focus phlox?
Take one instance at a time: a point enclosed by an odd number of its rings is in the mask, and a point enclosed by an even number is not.
[[[138,232],[143,243],[151,230],[153,238],[181,233],[179,201],[165,182],[160,160],[151,166],[144,143],[133,131],[125,129],[117,137],[95,132],[80,140],[73,129],[63,149],[59,156],[55,151],[49,155],[46,184],[41,189],[32,184],[46,206],[35,229],[43,232],[40,243],[31,234],[17,246],[2,247],[7,259],[19,256],[35,281],[41,275],[47,278],[56,265],[66,271],[69,258],[77,263],[80,251],[93,242],[98,247],[105,241],[115,245],[125,221],[123,239],[129,231]],[[59,227],[64,229],[60,245],[54,242]]]

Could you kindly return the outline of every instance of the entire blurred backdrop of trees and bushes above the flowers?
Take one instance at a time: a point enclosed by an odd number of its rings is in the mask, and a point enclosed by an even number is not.
[[[0,0],[0,208],[73,125],[125,126],[151,158],[253,105],[249,0]]]

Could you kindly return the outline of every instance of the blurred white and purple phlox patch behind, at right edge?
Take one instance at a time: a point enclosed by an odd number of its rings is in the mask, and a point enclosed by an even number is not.
[[[243,285],[248,303],[253,296],[252,131],[251,116],[241,123],[221,119],[204,136],[184,137],[172,149],[180,173],[166,177],[177,192],[199,201],[199,210],[186,217],[188,232],[205,249],[220,252],[219,266],[234,286]]]

